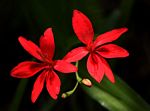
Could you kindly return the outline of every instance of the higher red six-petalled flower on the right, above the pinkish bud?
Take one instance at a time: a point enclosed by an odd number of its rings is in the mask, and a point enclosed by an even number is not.
[[[72,25],[78,39],[86,46],[73,49],[64,57],[64,60],[68,62],[75,62],[81,60],[84,56],[90,53],[87,60],[87,69],[89,74],[97,82],[100,82],[105,74],[108,79],[114,83],[115,79],[113,73],[104,58],[126,57],[129,53],[115,44],[106,43],[118,39],[121,34],[127,31],[127,28],[114,29],[101,34],[93,42],[94,31],[92,24],[83,13],[78,10],[74,10]]]

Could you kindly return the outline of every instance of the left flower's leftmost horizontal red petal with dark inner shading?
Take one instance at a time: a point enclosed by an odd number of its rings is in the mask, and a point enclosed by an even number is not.
[[[28,78],[44,68],[44,64],[31,61],[24,61],[12,69],[11,76],[17,78]]]

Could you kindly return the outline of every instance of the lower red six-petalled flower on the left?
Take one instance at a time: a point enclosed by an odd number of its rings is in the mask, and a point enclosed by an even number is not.
[[[12,69],[11,75],[17,78],[29,78],[43,70],[34,83],[31,100],[33,103],[36,101],[43,89],[44,82],[46,82],[46,88],[50,96],[53,99],[57,99],[61,83],[54,69],[62,73],[70,73],[76,72],[77,68],[64,60],[52,59],[55,50],[52,29],[48,28],[40,38],[40,48],[23,37],[19,37],[19,42],[28,53],[42,61],[42,63],[33,61],[21,62]]]

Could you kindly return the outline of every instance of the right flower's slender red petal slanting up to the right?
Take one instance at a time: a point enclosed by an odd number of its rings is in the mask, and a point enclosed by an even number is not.
[[[112,42],[118,39],[121,36],[121,34],[125,33],[127,30],[128,30],[127,28],[119,28],[119,29],[114,29],[104,34],[101,34],[95,40],[93,47],[95,48],[104,43]]]

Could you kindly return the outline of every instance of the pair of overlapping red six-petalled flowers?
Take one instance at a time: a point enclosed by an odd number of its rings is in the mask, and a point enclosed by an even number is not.
[[[50,96],[53,99],[57,99],[61,82],[54,70],[62,73],[76,72],[77,68],[70,62],[81,60],[88,53],[87,69],[89,74],[97,82],[102,80],[104,74],[112,83],[115,82],[113,73],[104,58],[126,57],[129,54],[125,49],[115,44],[106,43],[118,39],[121,34],[127,31],[127,28],[114,29],[101,34],[93,42],[94,31],[92,24],[83,13],[74,10],[72,25],[78,39],[85,45],[71,50],[62,60],[53,60],[55,43],[51,28],[48,28],[40,38],[40,47],[23,37],[19,37],[18,40],[23,48],[41,61],[41,63],[24,61],[11,71],[13,77],[28,78],[42,70],[33,86],[32,102],[35,102],[40,95],[45,82]]]

